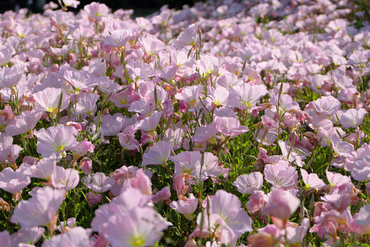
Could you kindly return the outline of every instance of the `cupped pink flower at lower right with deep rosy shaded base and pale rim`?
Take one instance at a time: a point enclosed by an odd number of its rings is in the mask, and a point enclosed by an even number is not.
[[[273,215],[280,220],[288,220],[300,204],[296,196],[280,188],[273,188],[268,196],[269,199],[263,207],[262,213]]]

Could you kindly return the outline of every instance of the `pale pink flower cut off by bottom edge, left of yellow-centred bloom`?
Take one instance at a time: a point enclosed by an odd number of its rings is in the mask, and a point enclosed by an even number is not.
[[[61,235],[54,235],[42,244],[42,247],[88,247],[91,246],[91,229],[85,229],[81,226],[71,228]]]

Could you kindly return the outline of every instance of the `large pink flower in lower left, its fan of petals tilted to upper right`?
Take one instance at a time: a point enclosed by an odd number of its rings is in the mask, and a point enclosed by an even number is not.
[[[10,221],[26,228],[49,224],[64,200],[64,193],[51,187],[38,189],[32,198],[18,203]]]

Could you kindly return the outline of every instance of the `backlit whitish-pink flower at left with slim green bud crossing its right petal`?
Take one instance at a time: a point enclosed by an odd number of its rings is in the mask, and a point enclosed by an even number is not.
[[[56,114],[58,113],[58,104],[60,102],[60,97],[62,97],[62,104],[59,111],[67,108],[70,98],[66,91],[52,87],[48,87],[43,91],[34,93],[33,96],[42,109],[46,110],[54,116],[56,116]]]

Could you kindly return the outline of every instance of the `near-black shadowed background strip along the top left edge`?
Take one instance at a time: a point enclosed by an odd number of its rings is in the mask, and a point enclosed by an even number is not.
[[[37,13],[42,12],[42,8],[38,8],[37,2],[39,0],[0,0],[0,12],[3,13],[7,10],[17,10],[17,8],[28,8],[31,12]],[[45,0],[48,3],[50,0]],[[72,11],[78,11],[84,8],[84,5],[93,1],[79,0],[80,4],[76,9],[69,8]],[[183,5],[187,4],[190,7],[199,0],[95,0],[99,3],[105,3],[114,12],[120,8],[124,10],[128,9],[139,9],[139,10],[159,10],[160,7],[167,4],[169,8],[181,9]],[[53,0],[54,3],[58,3],[58,0]]]

